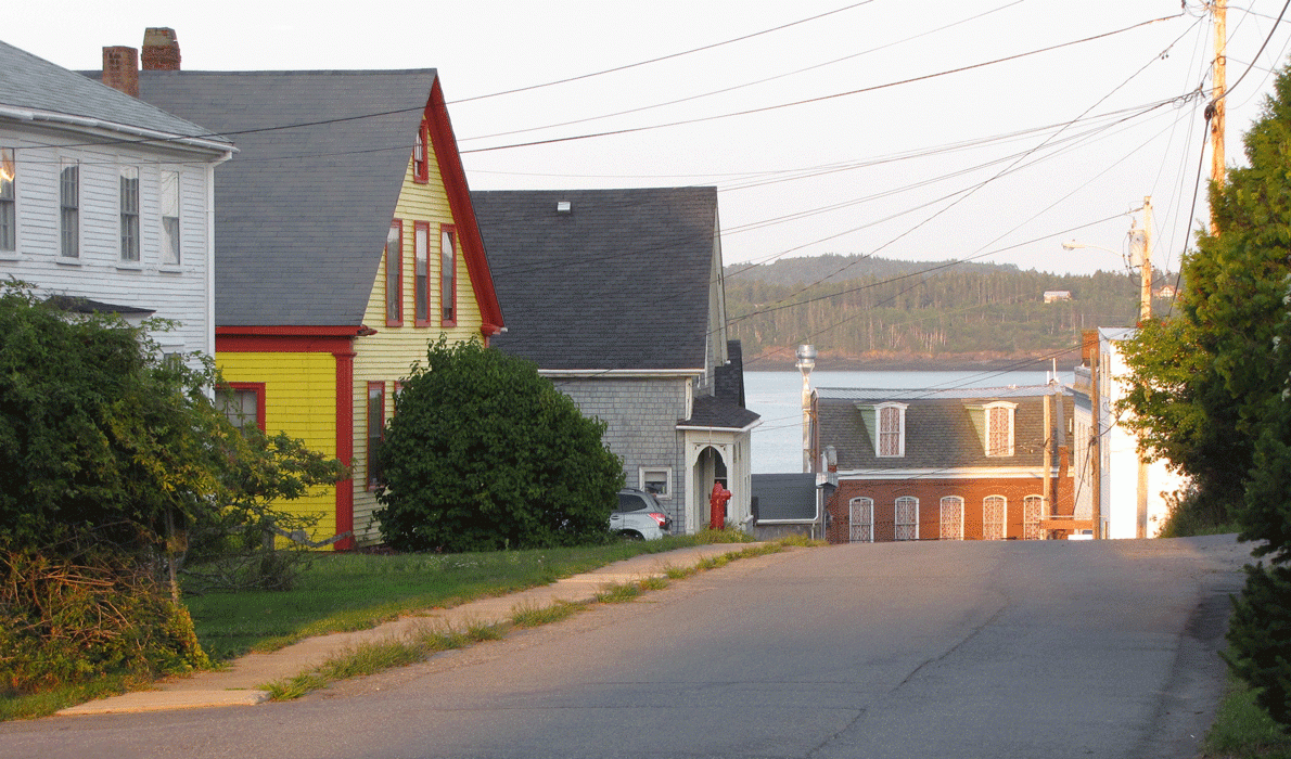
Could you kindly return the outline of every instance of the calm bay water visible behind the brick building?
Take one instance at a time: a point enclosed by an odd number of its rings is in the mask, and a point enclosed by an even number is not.
[[[1072,372],[1057,381],[1072,382]],[[1007,387],[1044,385],[1048,372],[812,372],[812,387],[882,387],[901,390],[951,387]],[[744,396],[749,410],[762,414],[753,429],[753,472],[780,474],[803,470],[803,378],[799,372],[745,372]]]

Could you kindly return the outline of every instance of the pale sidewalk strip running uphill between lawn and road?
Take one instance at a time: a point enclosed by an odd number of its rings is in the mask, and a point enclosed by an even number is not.
[[[669,569],[689,569],[707,559],[737,554],[759,545],[762,543],[717,543],[664,554],[644,554],[542,587],[532,587],[500,598],[479,599],[451,609],[434,609],[425,614],[400,617],[371,630],[307,638],[272,653],[250,653],[235,660],[225,670],[161,680],[154,691],[138,691],[70,706],[58,711],[58,715],[85,716],[214,706],[254,706],[269,700],[269,692],[262,689],[266,683],[293,678],[363,643],[404,638],[426,626],[460,629],[467,625],[505,622],[510,620],[511,612],[516,607],[544,608],[556,602],[589,602],[605,586],[648,577],[664,577]]]

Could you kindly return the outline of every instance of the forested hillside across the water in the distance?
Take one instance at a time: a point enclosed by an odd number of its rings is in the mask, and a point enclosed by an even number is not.
[[[1155,285],[1174,284],[1174,276]],[[1069,301],[1044,302],[1046,290]],[[861,256],[791,258],[726,270],[732,337],[747,358],[800,342],[821,355],[1044,356],[1082,329],[1139,318],[1137,276],[1055,275],[1015,266],[902,262]],[[1170,307],[1168,299],[1154,303]]]

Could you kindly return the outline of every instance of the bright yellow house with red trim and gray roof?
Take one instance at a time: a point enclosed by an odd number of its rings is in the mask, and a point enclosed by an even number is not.
[[[337,549],[378,541],[373,443],[399,378],[440,334],[503,328],[436,71],[145,70],[139,96],[240,151],[207,209],[235,401],[354,465],[288,507]]]

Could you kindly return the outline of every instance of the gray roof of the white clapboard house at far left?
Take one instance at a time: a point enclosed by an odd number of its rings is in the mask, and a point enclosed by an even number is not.
[[[0,43],[0,106],[227,143],[227,139],[212,136],[207,126],[137,101],[6,43]]]

